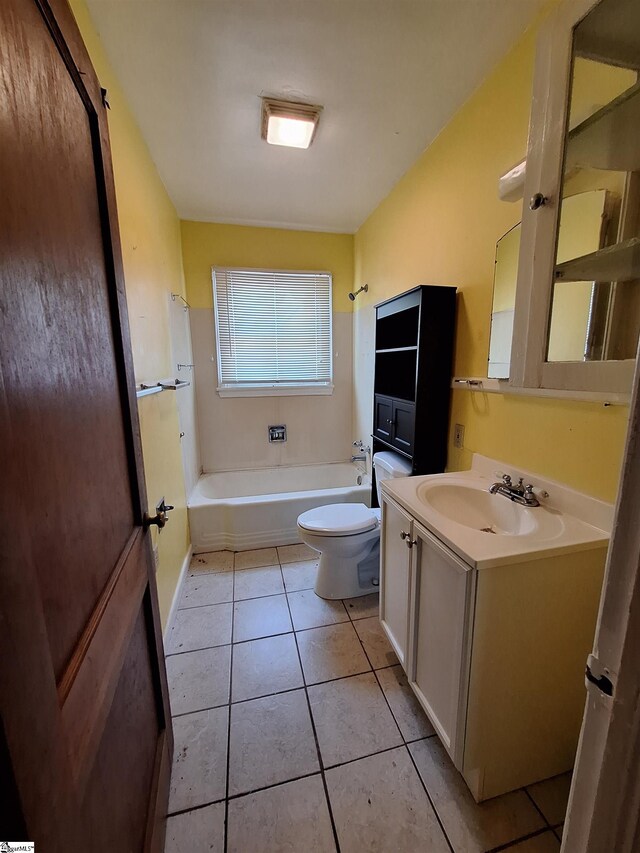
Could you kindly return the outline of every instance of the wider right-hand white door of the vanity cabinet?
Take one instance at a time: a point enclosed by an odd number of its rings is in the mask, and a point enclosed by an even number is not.
[[[458,769],[462,767],[475,571],[413,525],[407,675]]]

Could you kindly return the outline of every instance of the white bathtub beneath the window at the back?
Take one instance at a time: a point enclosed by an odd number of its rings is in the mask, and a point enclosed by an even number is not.
[[[350,462],[203,474],[187,503],[193,550],[293,545],[301,512],[331,503],[369,506],[370,498],[371,478]]]

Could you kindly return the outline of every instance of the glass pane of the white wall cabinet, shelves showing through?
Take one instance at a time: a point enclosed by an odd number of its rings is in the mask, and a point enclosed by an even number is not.
[[[574,30],[548,362],[635,358],[639,23],[637,0],[601,0]]]

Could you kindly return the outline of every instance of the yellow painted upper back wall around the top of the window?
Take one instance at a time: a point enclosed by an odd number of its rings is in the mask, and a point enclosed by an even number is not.
[[[254,228],[215,222],[182,222],[187,298],[194,308],[211,308],[211,267],[327,270],[333,273],[333,310],[351,311],[353,235],[282,228]]]

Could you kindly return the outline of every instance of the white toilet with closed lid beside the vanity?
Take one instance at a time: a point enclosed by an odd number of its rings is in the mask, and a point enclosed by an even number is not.
[[[378,503],[380,484],[408,477],[411,463],[397,453],[374,454]],[[321,598],[356,598],[375,592],[380,577],[380,510],[364,504],[328,504],[298,516],[303,542],[320,552],[315,592]]]

